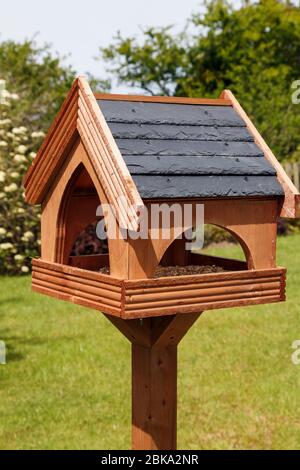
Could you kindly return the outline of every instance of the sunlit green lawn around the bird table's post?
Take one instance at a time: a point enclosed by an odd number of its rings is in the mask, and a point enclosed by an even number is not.
[[[179,448],[300,448],[299,245],[278,243],[286,303],[206,312],[182,341]],[[2,277],[0,340],[1,449],[130,447],[130,346],[104,316]]]

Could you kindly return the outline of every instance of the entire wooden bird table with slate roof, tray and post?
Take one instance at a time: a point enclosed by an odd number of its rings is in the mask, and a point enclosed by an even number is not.
[[[42,207],[33,289],[103,312],[132,342],[133,448],[174,449],[177,344],[203,310],[285,299],[276,230],[279,217],[298,216],[297,189],[230,91],[94,95],[83,78],[24,185]],[[167,237],[161,218],[153,222],[157,205],[171,214]],[[180,223],[175,213],[187,205]],[[245,261],[186,249],[199,207],[202,223],[227,230]],[[122,236],[111,235],[111,212]],[[145,237],[135,236],[141,214]],[[79,234],[98,223],[106,252],[74,254]]]

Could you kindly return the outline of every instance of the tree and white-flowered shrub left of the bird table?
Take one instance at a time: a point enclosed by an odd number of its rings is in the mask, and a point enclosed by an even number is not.
[[[0,43],[0,273],[28,272],[39,253],[39,207],[22,179],[74,76],[47,46]]]

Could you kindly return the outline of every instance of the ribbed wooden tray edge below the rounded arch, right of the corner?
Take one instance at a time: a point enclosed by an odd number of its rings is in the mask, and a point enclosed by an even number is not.
[[[279,302],[284,283],[283,268],[124,281],[124,318]]]

